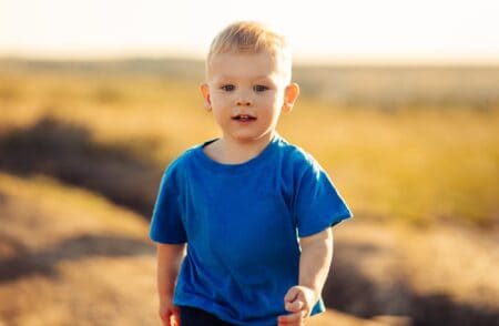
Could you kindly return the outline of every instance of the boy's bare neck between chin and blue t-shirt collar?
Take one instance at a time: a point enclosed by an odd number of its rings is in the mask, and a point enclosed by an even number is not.
[[[204,147],[212,160],[223,164],[241,164],[256,156],[271,143],[276,133],[271,132],[258,140],[238,142],[230,137],[221,137]]]

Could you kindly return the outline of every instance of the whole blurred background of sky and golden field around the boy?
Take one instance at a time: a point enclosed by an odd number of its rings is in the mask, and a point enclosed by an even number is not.
[[[309,325],[499,325],[497,1],[0,0],[0,325],[159,325],[161,175],[218,135],[203,59],[234,20],[288,35],[278,132],[328,171]]]

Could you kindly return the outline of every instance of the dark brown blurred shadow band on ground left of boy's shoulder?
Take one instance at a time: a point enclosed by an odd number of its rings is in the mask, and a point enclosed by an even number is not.
[[[0,170],[53,176],[100,193],[145,218],[152,214],[163,173],[126,147],[95,144],[82,126],[50,116],[0,136]]]

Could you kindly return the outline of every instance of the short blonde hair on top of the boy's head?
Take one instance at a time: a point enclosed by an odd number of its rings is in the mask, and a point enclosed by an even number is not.
[[[212,41],[206,71],[213,55],[220,53],[267,52],[279,60],[285,80],[291,82],[292,55],[284,35],[255,21],[237,21],[224,28]]]

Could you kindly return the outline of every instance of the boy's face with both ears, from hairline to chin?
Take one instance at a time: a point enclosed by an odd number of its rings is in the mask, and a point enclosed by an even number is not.
[[[201,91],[224,139],[248,142],[272,137],[281,111],[291,111],[298,96],[298,85],[286,84],[279,64],[266,52],[211,58],[207,83]]]

